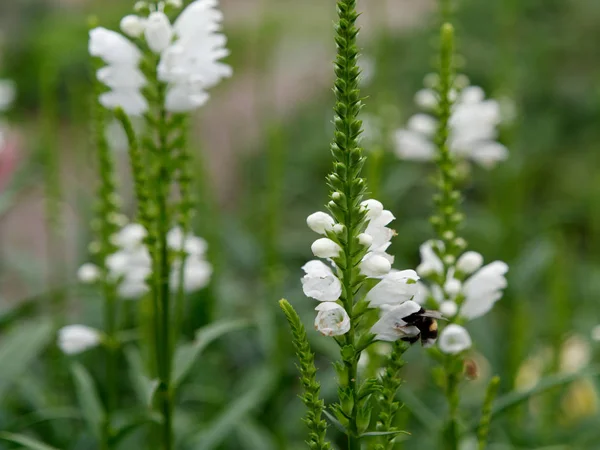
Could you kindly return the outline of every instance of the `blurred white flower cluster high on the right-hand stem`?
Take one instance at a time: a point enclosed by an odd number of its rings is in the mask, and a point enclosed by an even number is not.
[[[479,86],[466,86],[450,92],[454,102],[449,121],[450,151],[461,159],[470,159],[490,169],[508,157],[508,150],[497,142],[498,126],[504,117],[496,100],[485,98]],[[415,103],[428,113],[435,114],[439,94],[431,88],[415,95]],[[406,125],[395,133],[396,154],[401,159],[432,161],[437,154],[434,136],[438,122],[430,114],[413,115]]]

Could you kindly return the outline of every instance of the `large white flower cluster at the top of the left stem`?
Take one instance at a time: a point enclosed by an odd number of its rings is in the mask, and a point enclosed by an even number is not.
[[[121,31],[133,41],[106,28],[91,30],[89,52],[106,64],[96,76],[110,89],[100,96],[100,103],[108,109],[121,107],[130,116],[148,110],[141,92],[147,79],[140,70],[140,48],[147,47],[159,57],[158,79],[168,85],[166,110],[183,113],[202,106],[208,100],[206,90],[232,73],[231,67],[220,62],[228,50],[220,33],[223,15],[217,6],[217,0],[196,0],[173,24],[163,2],[147,17],[126,16]]]

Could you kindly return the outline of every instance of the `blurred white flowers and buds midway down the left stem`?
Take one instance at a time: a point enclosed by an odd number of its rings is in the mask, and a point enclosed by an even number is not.
[[[148,292],[146,280],[152,273],[152,258],[144,245],[145,237],[146,229],[137,223],[125,225],[112,237],[117,251],[106,258],[107,276],[117,283],[121,298],[136,299]],[[182,264],[183,290],[192,292],[205,287],[212,274],[211,265],[204,259],[206,242],[197,236],[184,235],[180,228],[175,227],[167,235],[167,244],[174,254],[169,283],[171,289],[179,289]],[[96,282],[100,276],[99,268],[90,263],[84,264],[78,271],[78,278],[83,283]]]

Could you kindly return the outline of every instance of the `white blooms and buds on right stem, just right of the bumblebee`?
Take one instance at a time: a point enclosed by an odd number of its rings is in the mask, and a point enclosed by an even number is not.
[[[463,253],[455,262],[450,258],[443,261],[438,256],[443,250],[440,241],[421,245],[417,273],[429,285],[418,283],[414,301],[433,306],[452,322],[442,330],[439,347],[444,353],[456,354],[472,345],[469,332],[460,323],[485,315],[502,298],[508,266],[502,261],[483,266],[483,257],[474,251]]]

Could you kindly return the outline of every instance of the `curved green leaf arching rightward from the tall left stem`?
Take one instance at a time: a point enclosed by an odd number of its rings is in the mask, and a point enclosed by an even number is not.
[[[248,320],[223,320],[200,328],[196,332],[196,339],[189,344],[180,345],[175,353],[173,370],[173,383],[179,385],[194,366],[204,349],[213,341],[251,325]]]

